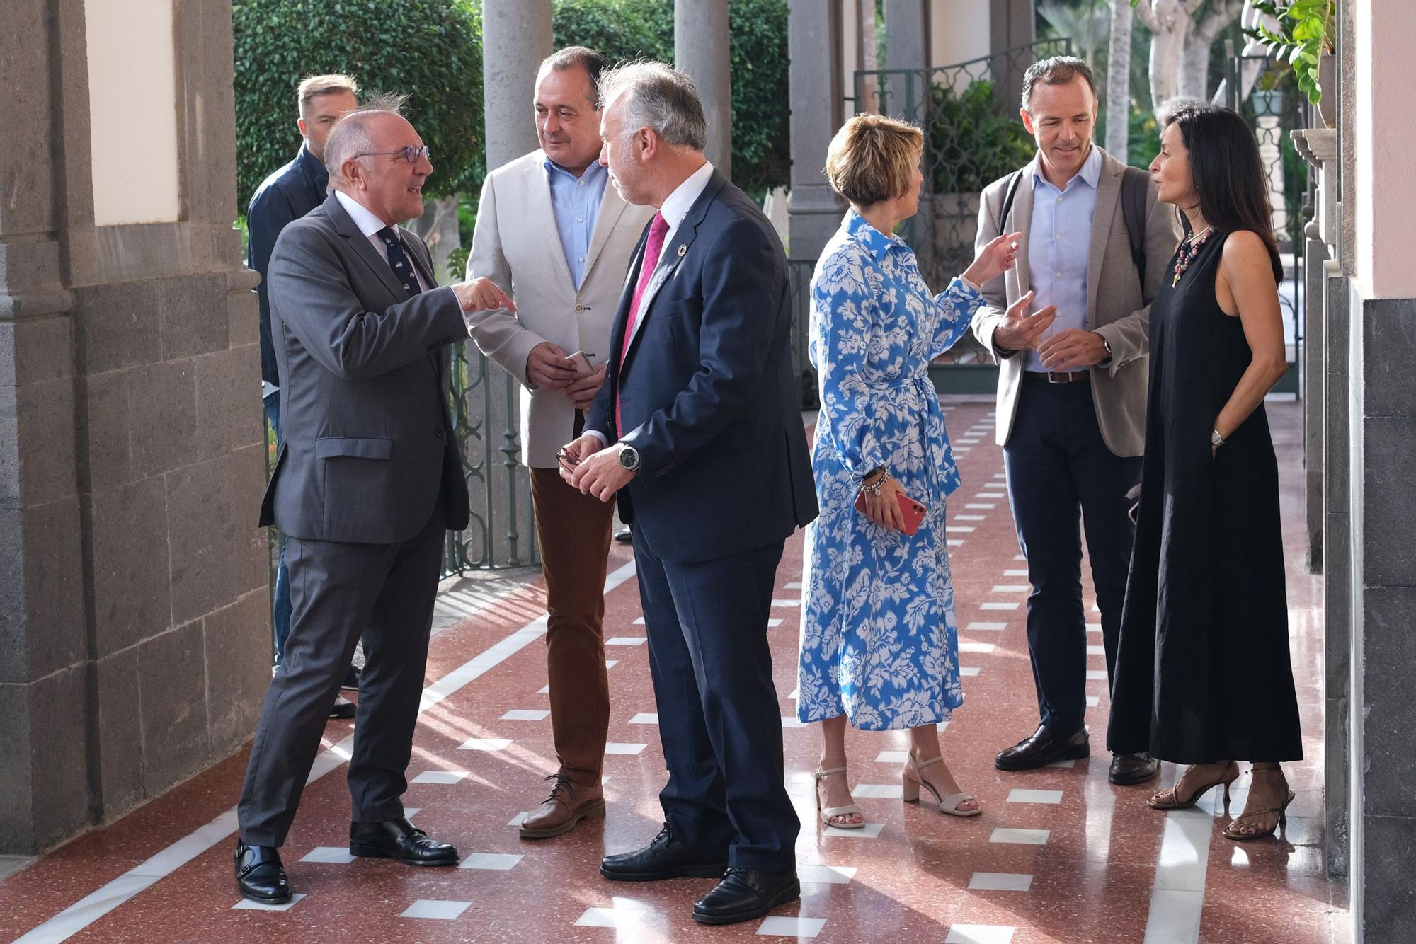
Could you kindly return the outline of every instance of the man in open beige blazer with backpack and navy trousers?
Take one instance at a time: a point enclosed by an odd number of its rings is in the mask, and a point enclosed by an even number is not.
[[[1021,232],[1017,266],[984,286],[973,328],[1001,365],[998,443],[1032,585],[1028,651],[1041,715],[1032,735],[997,756],[1000,770],[1090,753],[1080,531],[1110,678],[1134,539],[1126,493],[1140,481],[1146,439],[1148,304],[1180,238],[1148,175],[1092,142],[1096,112],[1082,59],[1029,67],[1021,115],[1038,156],[990,184],[978,211],[978,246]],[[1024,321],[1044,306],[1055,318]],[[1119,754],[1109,776],[1134,784],[1157,770],[1147,756]]]

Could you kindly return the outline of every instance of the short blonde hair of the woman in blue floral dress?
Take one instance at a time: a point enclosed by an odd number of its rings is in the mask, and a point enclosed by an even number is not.
[[[826,178],[857,207],[903,197],[925,151],[923,133],[909,122],[857,115],[826,150]]]

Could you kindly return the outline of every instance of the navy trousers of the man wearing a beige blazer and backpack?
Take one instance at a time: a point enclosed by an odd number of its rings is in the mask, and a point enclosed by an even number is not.
[[[1102,611],[1106,677],[1116,668],[1126,572],[1136,529],[1126,493],[1141,457],[1107,449],[1090,384],[1022,382],[1012,433],[1003,447],[1008,502],[1028,559],[1028,655],[1038,713],[1068,736],[1086,712],[1086,613],[1082,604],[1082,529]]]

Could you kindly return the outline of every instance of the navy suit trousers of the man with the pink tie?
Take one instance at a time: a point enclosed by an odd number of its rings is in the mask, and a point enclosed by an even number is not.
[[[767,617],[782,541],[674,563],[634,528],[634,566],[674,836],[742,869],[796,868],[801,828],[783,783],[782,709]]]

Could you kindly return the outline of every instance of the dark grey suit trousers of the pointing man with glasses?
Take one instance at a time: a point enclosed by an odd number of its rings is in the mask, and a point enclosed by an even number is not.
[[[287,541],[290,637],[261,709],[236,805],[248,845],[285,844],[361,635],[365,662],[348,769],[353,819],[404,815],[443,535],[439,502],[402,543]]]

